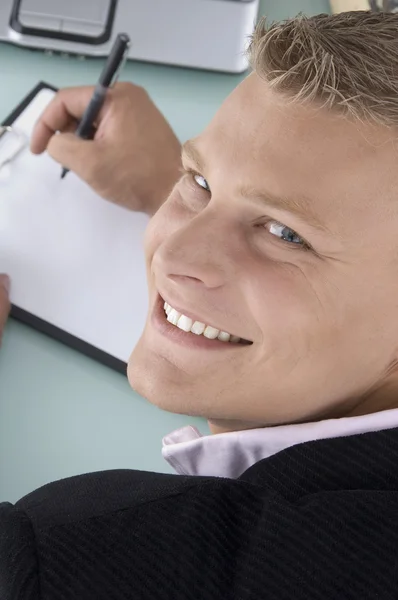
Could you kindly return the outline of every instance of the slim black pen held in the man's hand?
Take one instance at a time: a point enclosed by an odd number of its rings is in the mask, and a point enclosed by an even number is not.
[[[94,121],[101,110],[106,97],[107,89],[116,81],[119,71],[127,57],[130,47],[130,38],[126,33],[119,33],[113,44],[102,73],[95,86],[92,98],[87,106],[82,120],[76,129],[76,135],[83,140],[92,140],[94,137]],[[65,177],[69,169],[63,167],[61,179]]]

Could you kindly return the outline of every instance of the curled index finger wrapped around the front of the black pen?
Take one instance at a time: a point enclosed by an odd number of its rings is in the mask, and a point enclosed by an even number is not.
[[[83,115],[93,95],[94,86],[72,87],[60,90],[37,121],[30,140],[33,154],[47,148],[56,131],[64,131]]]

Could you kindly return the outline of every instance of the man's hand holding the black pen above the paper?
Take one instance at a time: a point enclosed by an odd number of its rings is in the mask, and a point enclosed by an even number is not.
[[[152,215],[180,177],[180,143],[146,91],[131,83],[108,91],[94,140],[78,139],[71,132],[93,89],[59,91],[36,123],[31,151],[47,149],[103,198]]]

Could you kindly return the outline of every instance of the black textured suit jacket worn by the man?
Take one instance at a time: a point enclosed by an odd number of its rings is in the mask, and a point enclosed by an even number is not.
[[[249,598],[398,598],[398,429],[238,479],[103,471],[0,504],[0,600]]]

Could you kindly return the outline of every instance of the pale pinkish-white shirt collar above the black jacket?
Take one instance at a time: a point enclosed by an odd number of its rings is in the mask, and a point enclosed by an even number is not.
[[[398,408],[358,417],[208,436],[203,436],[196,427],[188,425],[163,438],[162,455],[180,475],[213,475],[235,479],[259,460],[296,444],[393,427],[398,427]]]

